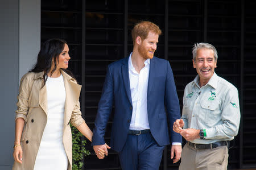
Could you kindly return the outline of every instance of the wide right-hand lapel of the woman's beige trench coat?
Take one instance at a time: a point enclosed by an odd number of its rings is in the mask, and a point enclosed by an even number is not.
[[[69,120],[71,119],[72,111],[77,103],[79,101],[79,96],[81,92],[82,86],[79,84],[76,84],[76,82],[73,80],[71,76],[69,76],[67,73],[61,70],[61,73],[63,74],[63,80],[64,80],[64,86],[66,91],[66,100],[65,100],[65,111],[64,111],[64,128],[67,127]]]

